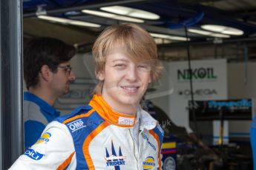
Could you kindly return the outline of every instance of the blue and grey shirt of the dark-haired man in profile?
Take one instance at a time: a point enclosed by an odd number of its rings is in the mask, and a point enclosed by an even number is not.
[[[60,114],[53,106],[31,92],[24,92],[24,148],[32,146],[40,137],[47,123]]]

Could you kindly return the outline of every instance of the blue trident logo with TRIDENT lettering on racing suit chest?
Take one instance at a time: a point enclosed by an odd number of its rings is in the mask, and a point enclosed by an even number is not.
[[[111,152],[112,154],[109,154],[108,149],[106,148],[106,156],[105,160],[107,161],[107,166],[114,166],[116,170],[120,169],[120,166],[125,165],[125,156],[122,155],[121,146],[119,146],[119,154],[116,154],[116,151],[114,149],[113,141],[111,142]]]

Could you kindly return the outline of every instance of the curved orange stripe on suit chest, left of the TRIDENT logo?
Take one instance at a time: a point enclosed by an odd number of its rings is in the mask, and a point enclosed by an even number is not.
[[[88,137],[86,137],[85,142],[83,143],[82,150],[85,155],[86,163],[90,170],[94,170],[95,167],[93,166],[93,160],[91,160],[91,155],[89,153],[89,145],[91,143],[91,140],[93,140],[93,138],[96,137],[99,132],[102,132],[102,130],[105,129],[107,126],[109,126],[109,123],[107,121],[101,123],[96,129],[93,130],[93,132],[91,132],[90,135],[88,135]]]

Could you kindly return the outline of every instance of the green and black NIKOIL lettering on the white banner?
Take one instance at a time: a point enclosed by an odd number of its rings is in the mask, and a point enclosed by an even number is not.
[[[207,67],[207,68],[196,68],[191,69],[191,73],[189,69],[178,69],[177,70],[177,79],[178,81],[187,81],[190,79],[193,80],[215,80],[217,78],[217,75],[214,75],[214,68]]]

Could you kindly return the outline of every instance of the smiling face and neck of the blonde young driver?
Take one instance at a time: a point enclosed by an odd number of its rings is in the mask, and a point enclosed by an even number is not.
[[[104,82],[102,97],[116,112],[134,115],[151,82],[150,75],[150,64],[134,62],[122,50],[110,52],[98,74]]]

